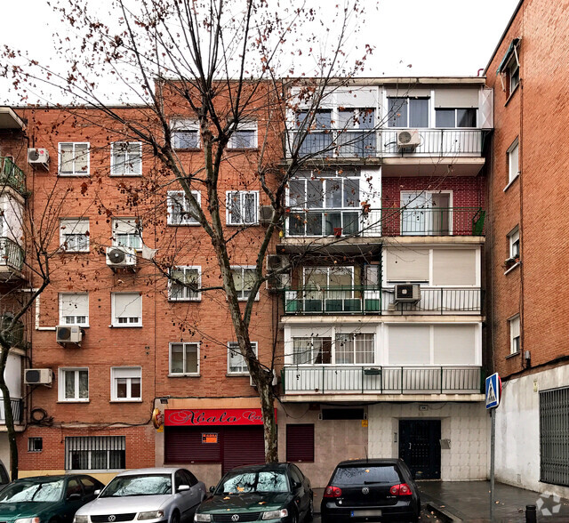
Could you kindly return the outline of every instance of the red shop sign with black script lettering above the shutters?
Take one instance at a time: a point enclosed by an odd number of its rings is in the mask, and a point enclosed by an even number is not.
[[[275,409],[276,419],[276,409]],[[166,409],[164,411],[166,427],[188,425],[262,425],[260,408],[205,408],[205,409]]]

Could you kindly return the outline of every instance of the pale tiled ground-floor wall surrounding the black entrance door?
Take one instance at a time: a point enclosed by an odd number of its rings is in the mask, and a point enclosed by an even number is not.
[[[451,440],[441,450],[441,479],[487,479],[490,468],[490,416],[484,403],[376,404],[368,407],[370,457],[398,457],[400,419],[440,419],[441,438]],[[397,433],[397,441],[396,441]]]

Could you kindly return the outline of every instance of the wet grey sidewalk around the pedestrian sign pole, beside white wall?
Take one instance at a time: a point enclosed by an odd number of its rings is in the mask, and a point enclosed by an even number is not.
[[[451,516],[447,521],[490,521],[490,481],[418,481],[417,484],[421,504],[430,503]],[[525,522],[525,505],[537,506],[540,523],[567,522],[569,500],[557,499],[558,502],[531,490],[496,483],[494,522]]]

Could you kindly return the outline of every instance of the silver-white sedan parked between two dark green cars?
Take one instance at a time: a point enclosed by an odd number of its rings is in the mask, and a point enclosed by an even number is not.
[[[186,469],[138,469],[117,474],[97,499],[76,512],[74,523],[180,523],[191,521],[205,485]]]

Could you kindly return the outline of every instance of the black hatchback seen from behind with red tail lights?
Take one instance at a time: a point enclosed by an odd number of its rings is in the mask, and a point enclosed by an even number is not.
[[[417,521],[419,489],[399,459],[370,459],[336,465],[322,498],[322,523]]]

